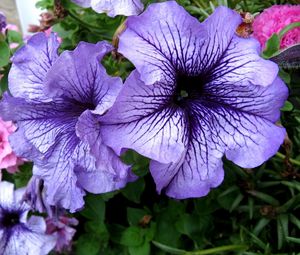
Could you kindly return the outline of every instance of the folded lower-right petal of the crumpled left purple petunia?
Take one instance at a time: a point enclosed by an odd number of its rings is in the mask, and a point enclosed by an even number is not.
[[[75,171],[78,183],[84,189],[92,193],[104,193],[120,189],[136,179],[132,178],[130,167],[103,144],[100,123],[91,111],[87,110],[80,116],[76,131],[83,143],[78,148]]]

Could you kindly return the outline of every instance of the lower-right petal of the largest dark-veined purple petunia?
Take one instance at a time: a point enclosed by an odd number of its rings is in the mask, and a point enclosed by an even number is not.
[[[255,95],[255,90],[252,92]],[[260,100],[263,101],[263,97]],[[207,126],[211,134],[206,135],[206,143],[213,144],[221,153],[226,152],[227,158],[236,164],[251,168],[259,166],[277,152],[285,129],[266,119],[263,105],[256,108],[255,101],[258,100],[253,100],[252,105],[249,101],[240,103],[238,107],[211,101],[194,104],[192,109],[198,117],[191,125],[202,129]],[[267,114],[268,111],[266,108]]]

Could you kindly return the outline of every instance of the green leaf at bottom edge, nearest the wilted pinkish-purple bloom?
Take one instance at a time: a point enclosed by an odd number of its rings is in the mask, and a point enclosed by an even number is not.
[[[101,243],[99,237],[94,234],[83,234],[76,243],[76,255],[97,255]]]

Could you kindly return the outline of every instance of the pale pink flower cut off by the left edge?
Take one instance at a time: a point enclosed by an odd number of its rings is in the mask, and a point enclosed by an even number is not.
[[[3,121],[0,118],[0,169],[6,168],[8,172],[15,173],[23,160],[12,151],[8,136],[16,130],[11,121]]]

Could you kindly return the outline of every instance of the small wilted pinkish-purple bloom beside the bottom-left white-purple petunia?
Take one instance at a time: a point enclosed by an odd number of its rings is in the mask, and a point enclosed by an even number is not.
[[[57,252],[70,251],[72,246],[72,239],[76,232],[76,229],[70,226],[76,226],[78,220],[75,218],[68,218],[66,216],[60,216],[58,219],[48,218],[46,219],[47,230],[49,235],[56,235],[57,241],[55,250]]]

